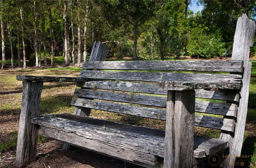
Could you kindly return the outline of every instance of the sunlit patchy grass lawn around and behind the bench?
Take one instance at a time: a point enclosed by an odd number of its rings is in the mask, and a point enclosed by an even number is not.
[[[62,61],[62,57],[58,58]],[[244,144],[242,155],[253,155],[249,161],[245,161],[245,166],[256,167],[256,60],[252,62],[252,74],[250,84],[250,95],[248,104],[248,114],[246,118],[246,128],[244,133]],[[1,63],[1,62],[0,62]],[[10,61],[6,61],[10,65]],[[50,68],[28,68],[28,69],[4,69],[0,70],[0,167],[12,167],[14,159],[4,162],[8,156],[15,157],[17,142],[17,131],[19,126],[19,114],[22,98],[22,82],[16,80],[16,75],[27,74],[36,76],[78,76],[81,67],[50,67]],[[72,83],[44,83],[41,96],[40,114],[60,114],[73,113],[74,107],[70,106],[75,84]],[[127,116],[115,113],[92,110],[92,117],[107,119],[116,122],[147,126],[151,128],[164,129],[165,122],[154,119]],[[196,134],[219,138],[220,131],[196,127]],[[38,145],[44,145],[51,140],[39,136]],[[51,141],[52,142],[52,141]],[[40,149],[39,149],[40,150]],[[14,152],[13,152],[14,151]],[[45,152],[42,152],[45,153]],[[48,156],[44,156],[47,157]],[[237,159],[238,161],[239,159]],[[2,161],[2,162],[1,162]]]

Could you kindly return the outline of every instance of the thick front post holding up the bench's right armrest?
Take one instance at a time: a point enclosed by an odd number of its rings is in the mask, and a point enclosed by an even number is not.
[[[195,91],[168,91],[164,168],[193,165]]]

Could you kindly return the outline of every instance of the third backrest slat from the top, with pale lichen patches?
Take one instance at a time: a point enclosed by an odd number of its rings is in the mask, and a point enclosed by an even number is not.
[[[138,92],[138,93],[149,93],[149,94],[161,94],[167,95],[166,91],[163,91],[156,87],[156,84],[138,83],[138,82],[115,82],[115,81],[90,81],[85,83],[77,83],[78,87],[93,88],[95,89],[106,89],[116,90],[125,92]],[[237,100],[237,90],[218,90],[209,91],[204,89],[196,89],[196,98],[204,99],[216,99],[216,100]]]

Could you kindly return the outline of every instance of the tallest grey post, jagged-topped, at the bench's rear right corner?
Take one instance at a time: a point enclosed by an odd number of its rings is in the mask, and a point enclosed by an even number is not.
[[[249,53],[250,47],[253,46],[254,32],[255,22],[253,20],[250,20],[245,14],[238,18],[231,60],[244,61],[243,86],[240,90],[240,99],[237,107],[235,132],[221,132],[220,134],[220,139],[227,140],[229,146],[229,156],[224,162],[225,168],[234,167],[236,157],[241,155],[252,67],[252,63],[249,62]]]

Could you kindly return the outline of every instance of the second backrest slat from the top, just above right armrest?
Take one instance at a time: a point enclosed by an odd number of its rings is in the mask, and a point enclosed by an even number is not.
[[[230,89],[240,89],[241,75],[235,74],[189,74],[189,73],[154,73],[154,72],[113,72],[113,71],[81,71],[80,77],[97,80],[127,80],[127,81],[181,81],[197,83],[229,84]],[[226,84],[226,85],[227,85]],[[224,89],[227,89],[225,85]],[[220,88],[222,89],[222,88]]]

